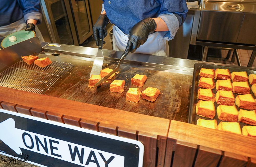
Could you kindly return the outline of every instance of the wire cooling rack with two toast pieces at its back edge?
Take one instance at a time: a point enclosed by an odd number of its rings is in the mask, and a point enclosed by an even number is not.
[[[41,68],[21,60],[0,73],[0,86],[43,94],[72,66],[70,63],[52,61]]]

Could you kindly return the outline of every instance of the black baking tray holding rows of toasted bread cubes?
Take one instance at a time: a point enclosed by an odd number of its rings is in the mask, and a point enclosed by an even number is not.
[[[232,72],[241,72],[241,71],[246,71],[247,75],[249,76],[250,74],[256,74],[256,68],[253,67],[244,67],[244,66],[237,66],[237,65],[230,65],[230,64],[207,64],[207,63],[195,63],[194,64],[194,73],[193,73],[193,81],[192,81],[192,89],[191,89],[191,98],[190,98],[190,106],[189,106],[189,116],[188,116],[188,123],[191,124],[196,124],[196,121],[198,120],[198,118],[201,119],[207,119],[207,120],[213,120],[216,119],[217,123],[219,124],[222,120],[218,119],[217,116],[217,112],[215,114],[215,117],[213,119],[210,118],[205,118],[205,117],[201,117],[199,115],[196,115],[196,103],[199,101],[199,99],[197,99],[197,91],[199,88],[198,87],[198,81],[199,81],[199,72],[201,68],[209,68],[209,69],[217,69],[217,68],[221,68],[221,69],[229,69],[230,73]],[[216,83],[217,79],[214,79],[214,82]],[[249,82],[248,82],[249,84]],[[251,87],[251,85],[249,84],[249,86]],[[214,89],[212,89],[213,93],[216,95],[216,87]],[[252,93],[252,90],[250,92],[253,96],[253,98],[255,99],[254,94]],[[236,97],[238,94],[237,93],[233,93],[234,96]],[[214,103],[215,105],[215,110],[217,109],[217,106],[219,104],[217,104],[216,102]],[[236,106],[237,107],[237,106]],[[239,111],[240,108],[237,107],[237,110]],[[222,121],[222,122],[228,122],[228,121]],[[240,127],[242,128],[243,126],[250,126],[248,124],[245,123],[241,123],[240,122]]]

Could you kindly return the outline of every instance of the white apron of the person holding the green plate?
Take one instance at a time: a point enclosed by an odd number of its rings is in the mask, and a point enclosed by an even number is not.
[[[24,18],[12,23],[12,24],[1,26],[0,27],[0,38],[1,37],[5,38],[6,36],[16,32],[16,31],[25,30],[26,27],[27,27],[27,24],[25,23]],[[36,36],[39,38],[39,40],[41,42],[45,42],[45,40],[37,26],[36,26]]]

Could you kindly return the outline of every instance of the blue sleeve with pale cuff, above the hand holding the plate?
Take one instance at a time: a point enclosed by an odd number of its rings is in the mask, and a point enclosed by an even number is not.
[[[42,22],[42,14],[39,0],[18,0],[19,6],[23,10],[25,22],[28,19],[37,20],[37,24]]]

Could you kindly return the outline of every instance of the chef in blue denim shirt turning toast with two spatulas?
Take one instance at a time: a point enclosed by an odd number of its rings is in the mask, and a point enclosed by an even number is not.
[[[186,0],[103,0],[93,27],[96,45],[108,22],[113,26],[113,50],[169,56],[168,41],[184,23]]]

